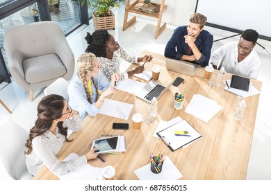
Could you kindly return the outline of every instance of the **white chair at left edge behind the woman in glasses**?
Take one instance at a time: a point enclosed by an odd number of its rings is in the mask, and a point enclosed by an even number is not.
[[[32,179],[26,168],[24,150],[28,131],[8,119],[0,123],[0,159],[12,179]]]

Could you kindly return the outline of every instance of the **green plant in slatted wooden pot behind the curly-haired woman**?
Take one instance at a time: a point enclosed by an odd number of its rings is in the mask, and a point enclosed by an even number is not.
[[[87,2],[88,6],[93,10],[93,25],[95,29],[115,29],[115,15],[111,11],[112,8],[120,8],[125,4],[125,0],[80,0],[81,6]]]

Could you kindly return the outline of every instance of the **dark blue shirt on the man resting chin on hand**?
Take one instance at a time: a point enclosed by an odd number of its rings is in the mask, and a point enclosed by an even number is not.
[[[188,35],[187,27],[188,26],[179,26],[174,30],[172,37],[165,46],[164,55],[166,58],[181,60],[181,57],[183,55],[194,55],[192,51],[190,54],[188,54],[188,44],[184,42],[185,39],[183,36]],[[197,36],[195,45],[202,53],[202,56],[196,62],[200,64],[202,67],[206,67],[208,65],[211,56],[211,48],[213,46],[213,35],[211,35],[211,33],[208,33],[207,30],[202,30]]]

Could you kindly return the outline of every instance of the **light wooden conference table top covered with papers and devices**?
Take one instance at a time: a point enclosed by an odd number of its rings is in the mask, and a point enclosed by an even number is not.
[[[136,98],[133,94],[118,90],[110,99],[133,104],[128,120],[102,114],[98,114],[96,117],[87,116],[83,120],[82,129],[69,137],[73,141],[64,143],[63,148],[58,153],[58,158],[63,160],[71,152],[78,155],[85,154],[90,149],[92,141],[99,139],[100,134],[124,135],[127,150],[123,155],[102,155],[105,163],[102,163],[99,159],[94,159],[89,161],[89,164],[97,167],[114,166],[115,177],[119,180],[138,179],[133,171],[149,164],[150,155],[158,155],[159,152],[164,152],[183,175],[181,179],[245,179],[260,95],[245,98],[247,107],[243,119],[235,121],[233,116],[240,98],[224,91],[224,84],[220,87],[209,87],[208,80],[204,79],[204,68],[198,67],[195,76],[190,77],[173,71],[166,71],[163,55],[148,51],[143,51],[142,55],[154,57],[150,63],[145,65],[145,69],[148,71],[151,71],[151,67],[154,65],[161,66],[158,81],[163,85],[169,84],[177,76],[185,79],[183,84],[178,87],[171,86],[159,98],[158,114],[154,123],[147,124],[143,120],[141,130],[138,132],[133,130],[131,116],[139,112],[143,118],[146,118],[149,103]],[[136,65],[131,64],[129,69],[134,66]],[[225,73],[224,78],[231,78],[231,74]],[[134,77],[132,79],[138,80]],[[261,90],[261,82],[256,80],[252,80],[252,82],[254,87]],[[184,107],[181,110],[176,110],[173,107],[175,92],[179,92],[186,97]],[[217,101],[222,109],[211,121],[204,123],[195,116],[184,112],[193,94],[201,94]],[[155,138],[153,134],[161,119],[170,121],[176,116],[181,116],[188,121],[192,127],[202,134],[202,138],[188,145],[187,148],[180,148],[172,152],[161,139]],[[129,123],[129,130],[112,130],[114,122]],[[44,166],[33,179],[58,179],[58,177]]]

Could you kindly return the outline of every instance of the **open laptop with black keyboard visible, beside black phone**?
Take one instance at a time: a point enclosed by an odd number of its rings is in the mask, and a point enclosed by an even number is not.
[[[167,89],[169,89],[170,86],[172,85],[172,82],[169,85],[167,85],[167,87],[165,87],[164,85],[161,85],[158,82],[151,80],[150,82],[147,83],[147,85],[145,85],[145,87],[138,91],[136,96],[142,100],[147,101],[148,103],[151,103],[153,97],[156,97],[158,100],[158,98],[165,94]]]

